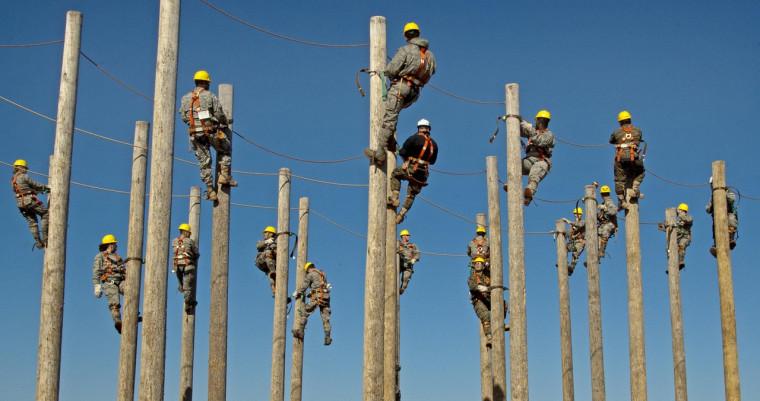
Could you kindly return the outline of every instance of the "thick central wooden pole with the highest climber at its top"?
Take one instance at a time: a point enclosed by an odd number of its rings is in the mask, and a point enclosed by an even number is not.
[[[385,17],[375,16],[369,24],[369,69],[385,69]],[[370,74],[369,144],[382,149],[380,130],[383,120],[382,78]],[[369,167],[367,200],[367,263],[364,277],[364,361],[362,368],[362,400],[383,399],[383,320],[385,307],[385,238],[386,238],[386,170]]]

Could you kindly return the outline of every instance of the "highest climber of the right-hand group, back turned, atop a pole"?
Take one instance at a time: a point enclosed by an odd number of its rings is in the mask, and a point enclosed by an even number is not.
[[[641,129],[631,123],[631,113],[618,113],[617,128],[610,135],[610,143],[615,145],[615,194],[619,209],[627,209],[629,203],[641,197],[641,182],[644,181],[644,142]]]

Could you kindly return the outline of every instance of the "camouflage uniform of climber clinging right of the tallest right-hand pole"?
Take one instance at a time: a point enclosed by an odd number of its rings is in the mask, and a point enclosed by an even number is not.
[[[535,194],[538,183],[552,168],[554,134],[548,128],[537,130],[530,123],[520,121],[520,136],[528,138],[525,158],[522,160],[522,174],[528,176],[528,185],[525,188]]]

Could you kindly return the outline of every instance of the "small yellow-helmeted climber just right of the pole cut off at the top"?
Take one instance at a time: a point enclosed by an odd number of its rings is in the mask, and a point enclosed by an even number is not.
[[[190,225],[182,223],[178,227],[179,236],[172,242],[174,255],[174,273],[179,281],[178,290],[185,298],[185,312],[190,314],[198,302],[195,300],[195,279],[198,267],[198,247],[190,235]]]

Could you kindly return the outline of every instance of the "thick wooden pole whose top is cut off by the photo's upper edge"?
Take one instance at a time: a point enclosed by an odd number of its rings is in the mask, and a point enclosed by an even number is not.
[[[161,0],[153,95],[150,205],[145,251],[145,298],[140,354],[140,401],[164,399],[166,363],[166,278],[174,169],[179,0]]]

